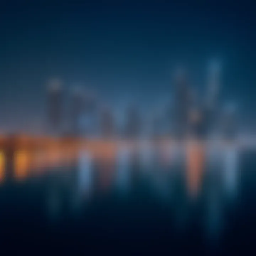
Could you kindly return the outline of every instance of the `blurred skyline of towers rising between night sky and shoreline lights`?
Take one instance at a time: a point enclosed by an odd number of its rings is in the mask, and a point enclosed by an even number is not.
[[[190,136],[205,139],[217,133],[225,138],[234,137],[237,110],[232,104],[226,104],[224,109],[219,106],[219,65],[210,65],[206,93],[201,98],[189,85],[183,69],[175,72],[172,89],[172,101],[170,95],[170,101],[164,106],[152,104],[143,112],[135,104],[123,109],[111,108],[83,87],[75,87],[66,94],[60,80],[50,80],[48,133],[94,138],[172,136],[183,139]]]

